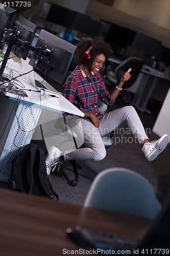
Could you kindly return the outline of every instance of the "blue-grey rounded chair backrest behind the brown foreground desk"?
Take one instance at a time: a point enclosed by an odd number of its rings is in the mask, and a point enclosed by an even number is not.
[[[85,207],[155,219],[157,200],[149,182],[126,168],[109,168],[96,176],[84,203]]]

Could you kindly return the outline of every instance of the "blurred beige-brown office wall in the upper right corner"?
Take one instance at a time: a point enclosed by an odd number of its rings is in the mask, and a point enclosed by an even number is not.
[[[90,0],[86,14],[152,36],[170,48],[169,10],[169,0],[115,0],[112,7]]]

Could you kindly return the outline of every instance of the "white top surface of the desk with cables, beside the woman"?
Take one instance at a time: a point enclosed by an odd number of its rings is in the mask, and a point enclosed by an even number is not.
[[[11,64],[10,62],[7,62],[5,71],[9,72],[10,69],[16,70],[18,72],[22,72],[22,67],[20,64],[20,60],[19,58],[15,57],[13,59],[15,61],[14,64]],[[32,69],[32,67],[30,66],[30,70]],[[19,74],[13,71],[13,76],[16,77]],[[34,76],[36,80],[42,81],[42,77],[40,77],[36,72],[34,72]],[[31,84],[30,82],[28,82],[24,77],[19,77],[17,78],[19,81],[21,81],[26,89],[31,89],[31,90],[36,90]],[[48,92],[34,92],[34,91],[26,91],[28,97],[21,97],[21,100],[24,100],[25,102],[29,102],[31,104],[38,104],[43,108],[48,108],[48,109],[52,109],[53,111],[61,111],[61,112],[67,112],[67,113],[71,113],[71,114],[75,114],[78,116],[84,116],[83,112],[81,112],[78,108],[76,108],[76,106],[74,106],[72,103],[70,103],[65,97],[63,97],[61,94],[58,96],[55,94],[55,92],[57,92],[50,84],[48,84],[46,81],[43,81],[43,84],[45,87],[47,87],[50,91],[54,92],[54,95],[56,97],[51,97],[50,95],[52,95],[52,93],[48,93]],[[16,85],[16,84],[15,84]],[[22,89],[19,86],[19,83],[17,85],[18,88]],[[3,92],[6,96],[10,97],[11,99],[17,99],[18,95],[9,93],[9,92]],[[58,92],[57,92],[58,93]],[[44,95],[43,95],[44,94]]]

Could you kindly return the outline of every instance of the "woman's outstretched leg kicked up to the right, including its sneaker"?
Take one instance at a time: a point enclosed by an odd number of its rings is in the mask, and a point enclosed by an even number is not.
[[[169,140],[167,134],[164,134],[158,140],[149,142],[149,138],[145,134],[144,127],[133,106],[125,106],[103,115],[99,125],[99,133],[103,136],[112,132],[124,121],[127,121],[131,132],[141,144],[142,152],[148,161],[154,160],[167,146]]]

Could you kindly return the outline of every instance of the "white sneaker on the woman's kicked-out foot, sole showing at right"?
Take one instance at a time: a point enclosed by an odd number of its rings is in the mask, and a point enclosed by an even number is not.
[[[164,134],[159,140],[144,143],[142,151],[148,161],[154,160],[167,146],[169,136]]]

